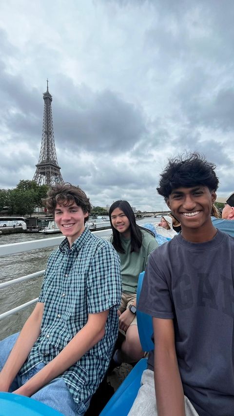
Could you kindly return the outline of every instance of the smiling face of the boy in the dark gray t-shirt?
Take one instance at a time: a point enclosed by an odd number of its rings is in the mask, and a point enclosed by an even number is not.
[[[211,221],[211,205],[215,202],[215,191],[207,186],[180,187],[174,189],[168,198],[167,205],[181,223],[182,235],[193,241],[193,235],[201,231],[199,241],[214,237]],[[211,237],[212,236],[212,237]],[[211,237],[211,238],[210,238]]]

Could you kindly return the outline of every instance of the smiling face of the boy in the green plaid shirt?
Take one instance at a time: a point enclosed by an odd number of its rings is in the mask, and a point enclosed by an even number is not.
[[[76,202],[72,201],[66,206],[57,203],[55,221],[61,233],[67,237],[70,247],[84,231],[84,218],[86,217],[88,217],[88,212],[83,213],[82,208]]]

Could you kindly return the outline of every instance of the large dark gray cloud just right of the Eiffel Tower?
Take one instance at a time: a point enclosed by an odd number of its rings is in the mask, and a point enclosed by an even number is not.
[[[108,90],[93,93],[82,86],[78,97],[82,106],[59,106],[54,111],[58,141],[65,146],[68,139],[74,148],[121,153],[123,146],[125,151],[131,149],[147,133],[140,110],[117,94]]]

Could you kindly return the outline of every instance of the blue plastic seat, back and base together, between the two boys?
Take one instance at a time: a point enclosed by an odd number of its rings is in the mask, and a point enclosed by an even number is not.
[[[139,301],[144,273],[139,274],[137,285],[137,304]],[[143,351],[154,349],[151,339],[153,334],[152,317],[137,310],[137,327],[140,343]],[[119,386],[115,394],[108,401],[99,416],[127,416],[140,388],[140,380],[144,370],[147,368],[147,359],[141,358]]]

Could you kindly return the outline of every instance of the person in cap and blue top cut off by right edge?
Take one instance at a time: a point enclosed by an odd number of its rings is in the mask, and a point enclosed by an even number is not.
[[[234,192],[229,197],[217,197],[216,202],[225,204],[222,219],[211,217],[215,228],[234,237]]]

